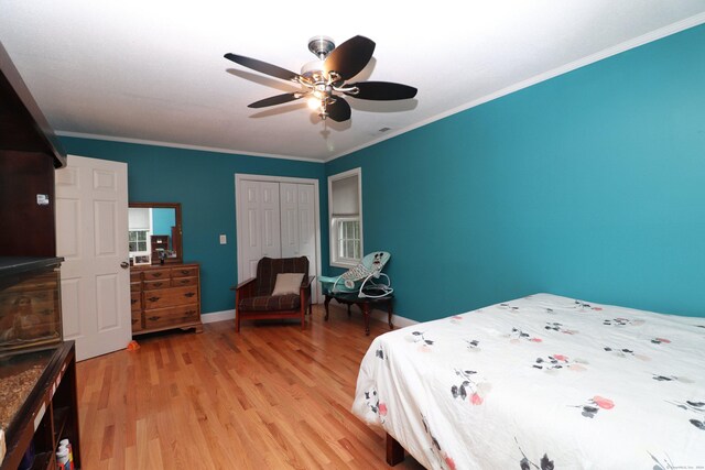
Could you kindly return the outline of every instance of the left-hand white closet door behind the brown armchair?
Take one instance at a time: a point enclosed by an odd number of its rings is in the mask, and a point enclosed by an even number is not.
[[[257,275],[263,256],[281,256],[279,183],[242,181],[240,184],[240,260],[238,278]]]

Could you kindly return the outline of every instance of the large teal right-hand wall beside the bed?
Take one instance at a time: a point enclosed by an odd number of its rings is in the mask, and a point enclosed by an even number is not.
[[[549,292],[705,316],[705,26],[337,159],[326,174],[357,166],[365,251],[392,253],[400,315]]]

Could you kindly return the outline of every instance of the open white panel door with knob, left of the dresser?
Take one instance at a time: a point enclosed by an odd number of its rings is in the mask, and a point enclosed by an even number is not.
[[[127,168],[69,155],[56,171],[63,330],[79,361],[124,349],[132,338]]]

